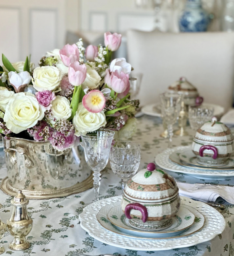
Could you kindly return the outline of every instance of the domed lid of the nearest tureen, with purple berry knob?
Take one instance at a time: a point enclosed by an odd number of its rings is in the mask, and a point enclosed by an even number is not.
[[[150,163],[128,181],[124,194],[134,201],[162,202],[175,197],[178,187],[173,177]]]

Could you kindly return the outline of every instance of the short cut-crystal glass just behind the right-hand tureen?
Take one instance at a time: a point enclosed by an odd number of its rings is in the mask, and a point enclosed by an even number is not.
[[[193,130],[199,129],[205,122],[211,121],[214,108],[207,106],[189,107],[189,124]]]

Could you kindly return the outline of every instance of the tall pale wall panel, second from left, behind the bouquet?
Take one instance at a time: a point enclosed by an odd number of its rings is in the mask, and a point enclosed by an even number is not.
[[[56,10],[30,10],[30,52],[35,64],[45,52],[56,48]]]

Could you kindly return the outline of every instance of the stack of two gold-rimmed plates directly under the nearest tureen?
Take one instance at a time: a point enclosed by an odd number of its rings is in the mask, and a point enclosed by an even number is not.
[[[203,216],[200,216],[200,214],[197,210],[193,209],[195,211],[195,214],[192,213],[189,209],[181,205],[181,208],[179,212],[176,214],[175,217],[173,217],[173,223],[171,227],[166,228],[165,230],[162,231],[155,231],[155,232],[147,232],[147,231],[142,231],[142,230],[137,230],[129,224],[128,218],[126,218],[125,214],[123,214],[123,211],[121,209],[121,204],[120,202],[116,202],[115,204],[112,204],[112,208],[110,209],[111,205],[107,205],[103,207],[97,214],[97,219],[98,222],[105,228],[107,228],[110,231],[116,232],[119,230],[121,234],[123,235],[130,235],[135,238],[148,238],[148,239],[165,239],[165,238],[177,238],[177,237],[182,237],[182,236],[188,236],[191,233],[197,232],[200,228],[203,227],[205,218]],[[105,209],[107,208],[107,209]],[[109,209],[108,209],[109,208]],[[108,220],[110,223],[107,223],[100,219],[100,217],[107,216]],[[195,227],[190,230],[189,227],[191,227],[194,222],[195,222],[195,217],[196,221],[199,220],[199,225],[200,227]],[[105,217],[106,218],[106,217]],[[203,218],[203,223],[202,223],[202,218]],[[188,230],[186,234],[183,233],[184,231]],[[116,232],[118,233],[118,232]],[[182,234],[181,234],[182,233]]]

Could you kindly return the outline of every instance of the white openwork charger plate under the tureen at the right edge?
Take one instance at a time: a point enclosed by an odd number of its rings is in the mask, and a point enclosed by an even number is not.
[[[158,166],[161,168],[173,171],[173,172],[179,172],[179,173],[185,173],[187,175],[200,178],[200,179],[226,179],[226,178],[232,178],[234,177],[234,170],[200,170],[196,167],[191,168],[182,166],[179,159],[179,154],[184,152],[184,150],[191,150],[191,146],[179,146],[175,148],[168,148],[164,150],[162,153],[158,154],[155,158],[155,162]],[[169,156],[173,154],[174,161],[171,161],[169,159]]]

